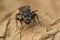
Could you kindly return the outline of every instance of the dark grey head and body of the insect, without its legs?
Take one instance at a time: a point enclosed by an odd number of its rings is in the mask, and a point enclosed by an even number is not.
[[[23,6],[20,8],[20,11],[23,14],[22,17],[24,22],[25,23],[31,22],[32,14],[31,14],[30,6]]]

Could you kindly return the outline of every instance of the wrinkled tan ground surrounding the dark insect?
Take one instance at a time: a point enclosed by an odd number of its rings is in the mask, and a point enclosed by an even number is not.
[[[16,26],[15,15],[24,5],[38,10],[41,23],[32,27],[29,26],[33,23],[23,23],[21,30],[19,21]],[[0,37],[0,40],[60,40],[60,0],[0,0]]]

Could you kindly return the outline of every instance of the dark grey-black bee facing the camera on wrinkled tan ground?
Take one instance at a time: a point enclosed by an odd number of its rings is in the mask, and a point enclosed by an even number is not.
[[[19,8],[19,11],[21,13],[16,14],[16,20],[20,21],[21,23],[24,21],[26,24],[29,24],[35,19],[35,16],[37,16],[35,12],[38,10],[31,11],[30,6],[22,6]]]

